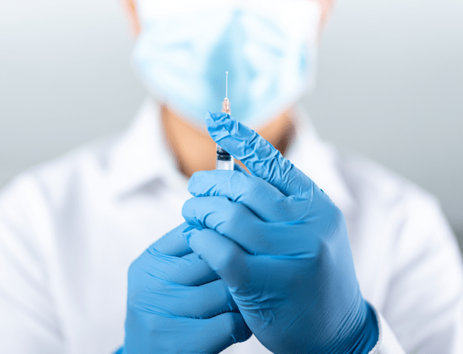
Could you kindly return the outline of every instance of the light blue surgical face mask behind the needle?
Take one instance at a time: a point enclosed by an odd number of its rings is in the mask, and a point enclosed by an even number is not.
[[[225,96],[251,127],[314,84],[320,11],[309,0],[138,0],[133,63],[160,103],[205,127]]]

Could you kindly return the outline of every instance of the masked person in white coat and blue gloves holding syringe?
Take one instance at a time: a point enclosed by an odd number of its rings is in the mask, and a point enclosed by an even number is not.
[[[150,98],[1,193],[2,352],[463,352],[438,202],[295,104],[331,6],[127,0]],[[214,170],[216,142],[236,171]]]

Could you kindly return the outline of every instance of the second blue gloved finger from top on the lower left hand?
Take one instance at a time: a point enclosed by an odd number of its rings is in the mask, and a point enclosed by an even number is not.
[[[202,285],[219,276],[195,253],[183,257],[168,256],[150,246],[129,268],[131,279],[157,278],[180,285]]]

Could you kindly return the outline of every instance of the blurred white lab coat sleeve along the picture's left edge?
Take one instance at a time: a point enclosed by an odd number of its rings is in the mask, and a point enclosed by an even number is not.
[[[47,228],[40,200],[29,177],[0,193],[0,353],[66,353],[45,267],[47,240],[38,232]]]

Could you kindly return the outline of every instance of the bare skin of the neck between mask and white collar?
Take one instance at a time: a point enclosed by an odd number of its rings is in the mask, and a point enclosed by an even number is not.
[[[288,110],[257,130],[283,155],[295,137],[295,122],[291,117]],[[196,171],[215,169],[215,142],[206,131],[188,124],[167,105],[161,105],[161,121],[166,143],[183,176],[190,178]]]

